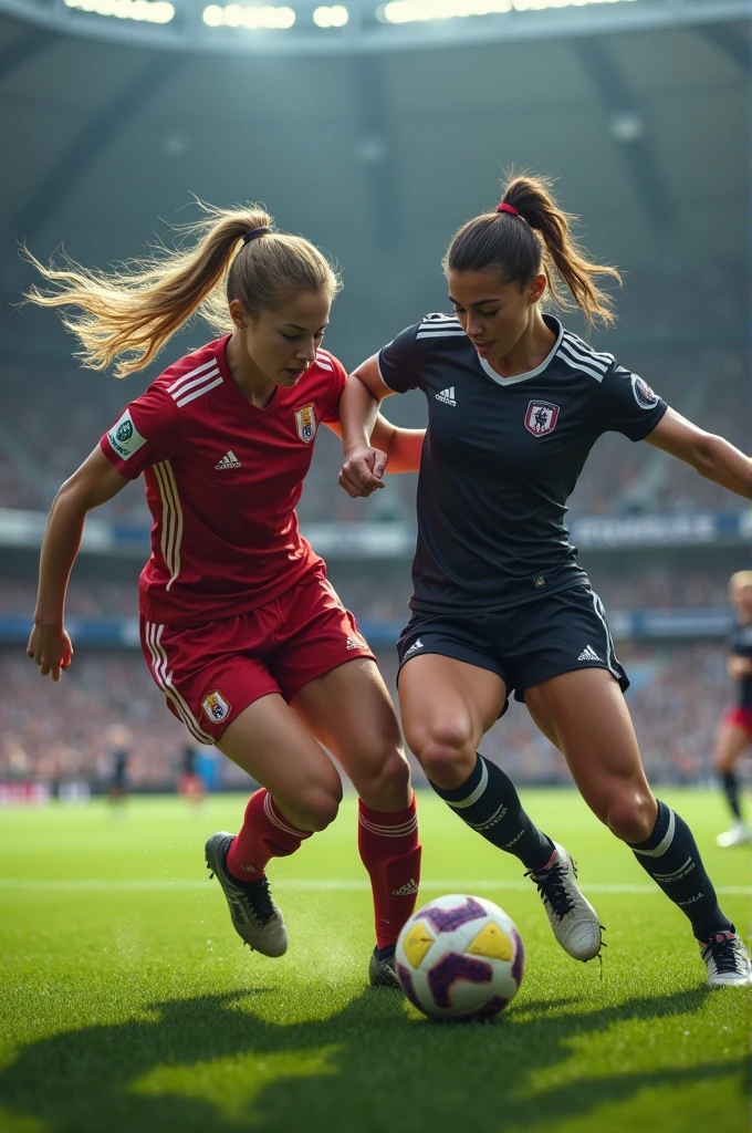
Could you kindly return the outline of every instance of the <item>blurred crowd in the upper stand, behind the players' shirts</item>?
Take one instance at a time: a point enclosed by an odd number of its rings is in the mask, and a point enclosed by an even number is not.
[[[742,347],[657,350],[642,346],[619,351],[619,360],[691,420],[744,445],[750,393]],[[0,383],[0,506],[49,508],[62,480],[145,383],[139,375],[123,383],[85,370],[32,373],[27,366],[8,365]],[[29,385],[34,389],[31,399]],[[402,425],[419,427],[426,420],[425,402],[418,395],[387,401],[384,411]],[[2,424],[10,420],[12,429]],[[340,442],[323,428],[298,509],[301,521],[413,518],[415,475],[390,477],[386,489],[369,501],[350,500],[336,487],[340,463]],[[610,434],[596,443],[571,506],[578,514],[626,514],[729,509],[738,503],[680,461]],[[148,525],[142,485],[128,485],[100,514],[111,521]]]

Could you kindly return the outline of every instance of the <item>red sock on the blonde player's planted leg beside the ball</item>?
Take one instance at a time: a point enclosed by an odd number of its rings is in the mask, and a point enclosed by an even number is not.
[[[387,813],[358,802],[358,849],[374,891],[376,945],[386,948],[416,908],[420,844],[416,796],[407,810]]]

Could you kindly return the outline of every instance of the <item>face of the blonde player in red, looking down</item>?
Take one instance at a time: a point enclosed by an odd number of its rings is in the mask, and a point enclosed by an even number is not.
[[[299,291],[280,307],[260,310],[243,329],[255,366],[275,385],[292,386],[316,359],[332,300],[318,291]]]

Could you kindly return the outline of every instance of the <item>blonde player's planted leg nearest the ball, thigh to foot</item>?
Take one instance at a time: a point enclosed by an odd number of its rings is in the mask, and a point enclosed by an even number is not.
[[[358,792],[358,846],[376,921],[369,979],[399,987],[394,945],[416,905],[420,845],[410,768],[386,685],[374,661],[356,657],[304,685],[291,707]]]

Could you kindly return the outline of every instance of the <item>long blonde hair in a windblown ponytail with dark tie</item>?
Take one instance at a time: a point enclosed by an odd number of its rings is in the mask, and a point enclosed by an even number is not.
[[[228,305],[239,299],[249,315],[272,309],[296,291],[324,291],[340,283],[322,253],[300,236],[266,232],[242,244],[247,232],[268,228],[257,205],[215,208],[199,202],[204,219],[181,227],[194,246],[164,249],[102,272],[66,258],[45,267],[27,249],[50,290],[31,287],[26,299],[41,307],[74,307],[62,318],[82,344],[91,369],[113,361],[117,377],[147,366],[168,340],[197,312],[219,333],[232,329]]]

